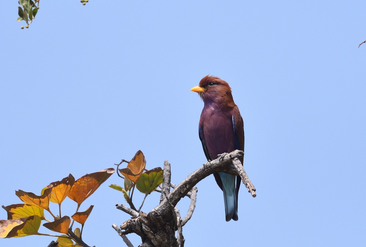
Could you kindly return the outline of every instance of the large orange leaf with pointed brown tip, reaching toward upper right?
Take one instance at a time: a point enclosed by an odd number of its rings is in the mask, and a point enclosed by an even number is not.
[[[79,205],[85,201],[98,187],[115,172],[114,168],[104,169],[91,174],[86,174],[75,181],[69,194],[70,199]]]

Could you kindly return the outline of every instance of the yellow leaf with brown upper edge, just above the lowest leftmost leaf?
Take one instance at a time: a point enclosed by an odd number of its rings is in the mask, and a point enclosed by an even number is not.
[[[32,215],[37,215],[44,220],[43,208],[32,206],[28,204],[12,204],[9,206],[2,206],[8,212],[8,220],[24,218]]]

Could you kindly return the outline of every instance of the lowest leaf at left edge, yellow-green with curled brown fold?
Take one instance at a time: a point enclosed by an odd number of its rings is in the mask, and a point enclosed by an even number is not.
[[[38,233],[41,218],[33,215],[14,220],[0,220],[0,238],[24,237]]]

